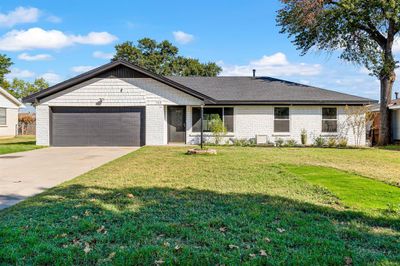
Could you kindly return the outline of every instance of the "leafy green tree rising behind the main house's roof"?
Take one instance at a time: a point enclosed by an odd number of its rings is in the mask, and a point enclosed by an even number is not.
[[[180,56],[178,47],[166,40],[157,43],[143,38],[137,45],[127,41],[117,44],[115,50],[112,60],[122,59],[164,76],[216,76],[222,71],[215,63]]]

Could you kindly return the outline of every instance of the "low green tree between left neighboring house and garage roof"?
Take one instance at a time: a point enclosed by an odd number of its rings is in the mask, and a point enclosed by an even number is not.
[[[32,93],[41,91],[48,87],[49,84],[43,78],[37,78],[33,83],[14,78],[6,90],[15,98],[22,99]]]

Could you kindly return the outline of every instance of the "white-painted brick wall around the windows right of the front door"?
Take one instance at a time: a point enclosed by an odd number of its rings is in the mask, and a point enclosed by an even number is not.
[[[256,135],[266,135],[268,140],[275,142],[276,139],[284,140],[294,139],[301,143],[301,130],[305,129],[308,134],[308,144],[312,144],[313,139],[320,135],[329,137],[334,134],[322,133],[322,108],[324,106],[289,106],[290,112],[290,132],[274,132],[274,106],[235,106],[234,107],[234,132],[228,133],[224,141],[233,139],[254,139]],[[338,123],[346,120],[346,114],[343,106],[337,106]],[[199,143],[199,134],[192,132],[191,108],[188,108],[187,115],[188,137],[187,143]],[[205,134],[205,139],[210,134]],[[355,139],[351,129],[347,130],[346,136],[349,145],[355,144]],[[365,145],[365,133],[362,136],[360,145]]]

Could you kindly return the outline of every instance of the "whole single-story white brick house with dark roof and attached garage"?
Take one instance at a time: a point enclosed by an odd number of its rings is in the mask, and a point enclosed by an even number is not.
[[[218,114],[225,140],[265,136],[300,142],[342,136],[346,105],[373,100],[266,77],[163,77],[115,61],[24,99],[36,106],[39,145],[121,146],[197,144],[200,113]],[[344,135],[343,135],[344,134]],[[365,143],[365,138],[362,144]]]

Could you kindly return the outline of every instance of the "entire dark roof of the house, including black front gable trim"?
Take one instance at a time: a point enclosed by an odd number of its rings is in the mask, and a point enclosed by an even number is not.
[[[131,69],[133,71],[122,71]],[[24,102],[41,99],[95,77],[148,77],[183,91],[206,104],[370,104],[376,101],[267,77],[163,77],[125,61],[113,61],[33,93]]]

